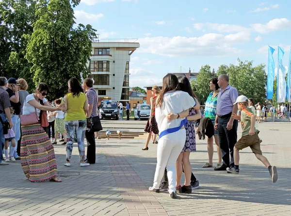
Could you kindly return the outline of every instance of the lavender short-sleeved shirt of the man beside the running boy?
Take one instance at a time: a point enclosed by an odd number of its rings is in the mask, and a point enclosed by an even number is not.
[[[238,90],[234,87],[227,85],[226,89],[218,93],[216,115],[224,116],[232,112],[233,104],[239,97]]]

